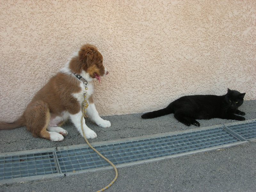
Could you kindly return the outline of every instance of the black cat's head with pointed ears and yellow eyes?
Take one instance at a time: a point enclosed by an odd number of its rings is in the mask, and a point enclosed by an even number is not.
[[[236,90],[228,89],[228,93],[225,96],[225,101],[231,109],[236,109],[244,102],[245,93],[240,93]]]

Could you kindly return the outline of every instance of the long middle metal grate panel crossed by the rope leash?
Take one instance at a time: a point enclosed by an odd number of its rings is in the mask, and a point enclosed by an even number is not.
[[[239,141],[218,127],[159,138],[135,140],[95,147],[113,164],[123,164],[168,156]],[[109,166],[91,148],[56,151],[62,173]]]

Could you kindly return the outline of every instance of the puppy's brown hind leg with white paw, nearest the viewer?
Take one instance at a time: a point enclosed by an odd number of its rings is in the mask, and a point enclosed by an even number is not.
[[[51,141],[62,141],[63,135],[57,132],[47,131],[50,122],[50,111],[47,103],[44,101],[35,101],[28,104],[24,113],[26,126],[33,137],[40,137]]]

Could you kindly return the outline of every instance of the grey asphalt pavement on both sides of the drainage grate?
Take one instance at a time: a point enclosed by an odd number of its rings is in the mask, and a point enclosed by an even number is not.
[[[96,106],[97,107],[97,106]],[[245,118],[256,118],[256,100],[239,108]],[[98,137],[89,142],[116,140],[196,128],[178,122],[173,114],[141,119],[141,114],[106,116],[110,128],[86,120]],[[201,127],[235,122],[226,119],[199,120]],[[63,126],[68,135],[62,142],[33,138],[24,127],[0,131],[0,152],[60,147],[85,143],[71,123]],[[118,179],[106,191],[256,191],[256,142],[218,151],[180,156],[118,169]],[[89,172],[64,178],[0,185],[0,191],[96,191],[115,177],[114,170]]]

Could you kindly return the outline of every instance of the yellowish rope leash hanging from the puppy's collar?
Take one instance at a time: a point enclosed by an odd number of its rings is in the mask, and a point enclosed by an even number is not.
[[[103,159],[105,159],[109,164],[112,165],[112,167],[115,169],[115,172],[116,172],[116,177],[104,188],[100,189],[99,191],[97,192],[101,192],[101,191],[104,191],[106,190],[107,188],[109,188],[117,179],[117,176],[118,176],[118,172],[117,172],[117,169],[116,169],[116,166],[111,162],[109,161],[106,157],[104,157],[103,155],[100,154],[99,151],[97,151],[94,147],[92,147],[92,145],[89,143],[89,141],[86,139],[85,137],[85,134],[84,134],[84,129],[83,129],[83,118],[84,118],[84,115],[86,114],[86,108],[88,107],[88,103],[86,101],[86,84],[84,83],[84,101],[83,101],[83,110],[82,110],[82,117],[81,117],[81,128],[82,128],[82,132],[83,132],[83,135],[84,135],[84,139],[86,141],[86,143],[89,145],[90,148],[92,148],[99,156],[101,156]],[[88,89],[88,88],[87,88]]]

